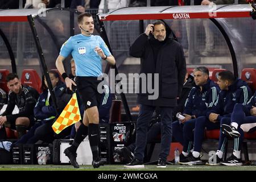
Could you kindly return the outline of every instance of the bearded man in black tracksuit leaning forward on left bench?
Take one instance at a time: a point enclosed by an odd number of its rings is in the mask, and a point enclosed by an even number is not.
[[[18,138],[26,134],[26,129],[34,125],[34,113],[38,92],[31,86],[22,85],[16,73],[9,73],[6,77],[9,92],[6,111],[0,117],[0,126],[17,130]],[[18,106],[19,113],[11,114],[14,107]]]

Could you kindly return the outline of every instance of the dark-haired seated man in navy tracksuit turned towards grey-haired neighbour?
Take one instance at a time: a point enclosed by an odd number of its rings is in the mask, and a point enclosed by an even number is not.
[[[213,109],[207,113],[207,118],[209,118],[210,122],[220,122],[220,125],[229,125],[234,105],[246,105],[252,95],[251,90],[245,81],[236,79],[230,71],[220,72],[217,84],[220,86],[221,92]],[[228,138],[220,132],[218,150],[209,159],[209,164],[220,165],[227,140]],[[238,144],[239,140],[235,140],[235,142]]]

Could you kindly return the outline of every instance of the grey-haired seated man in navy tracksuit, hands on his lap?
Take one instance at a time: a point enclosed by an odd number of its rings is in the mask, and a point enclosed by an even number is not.
[[[209,71],[206,67],[197,67],[193,71],[193,74],[195,76],[196,86],[191,89],[185,103],[185,109],[183,111],[185,118],[172,123],[174,138],[183,144],[183,151],[180,154],[180,163],[187,162],[191,156],[189,152],[192,149],[193,138],[196,137],[196,132],[194,137],[193,130],[198,130],[196,126],[197,118],[205,117],[207,111],[210,110],[214,102],[216,102],[218,93],[220,92],[217,84],[214,84],[214,82],[209,79]],[[220,125],[206,126],[210,129],[212,127],[220,127]],[[205,125],[201,126],[201,128],[201,130],[204,131]],[[195,160],[198,163],[201,162],[199,155],[200,152],[195,153]]]

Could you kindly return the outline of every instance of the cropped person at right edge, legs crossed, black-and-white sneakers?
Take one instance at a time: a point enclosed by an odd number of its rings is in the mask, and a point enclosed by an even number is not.
[[[245,132],[256,131],[256,92],[247,105],[236,104],[230,118],[230,125],[222,124],[222,132],[234,138],[233,154],[226,161],[221,162],[226,166],[241,166],[241,144]]]

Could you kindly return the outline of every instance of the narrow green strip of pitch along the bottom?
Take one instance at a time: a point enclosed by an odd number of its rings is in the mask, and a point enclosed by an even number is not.
[[[125,169],[123,165],[105,165],[94,169],[91,165],[75,169],[69,165],[0,165],[0,171],[256,171],[256,166],[181,166],[168,165],[167,168],[156,168],[156,165],[145,165],[144,169]]]

